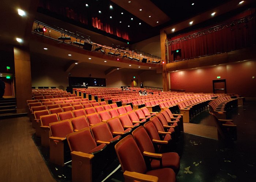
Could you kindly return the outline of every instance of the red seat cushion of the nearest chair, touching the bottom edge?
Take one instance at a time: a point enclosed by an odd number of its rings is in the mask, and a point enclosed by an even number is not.
[[[175,182],[176,181],[175,173],[170,168],[155,169],[152,171],[147,171],[146,174],[158,177],[158,182]]]

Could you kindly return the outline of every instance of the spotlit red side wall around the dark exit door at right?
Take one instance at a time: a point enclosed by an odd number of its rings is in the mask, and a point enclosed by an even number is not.
[[[256,76],[256,61],[170,72],[170,86],[185,92],[212,93],[212,80],[217,76],[226,79],[227,93],[256,97],[256,81],[252,79]]]

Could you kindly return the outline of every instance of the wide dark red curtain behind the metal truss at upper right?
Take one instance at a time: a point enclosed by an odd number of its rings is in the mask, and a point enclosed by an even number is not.
[[[233,20],[235,19],[237,19],[237,16],[236,18],[233,17]],[[249,47],[256,44],[255,31],[255,19],[253,19],[247,23],[240,23],[229,28],[173,44],[168,47],[169,55],[171,55],[171,51],[181,49],[181,56],[176,58],[176,60],[181,60]],[[197,30],[196,32],[200,31]],[[172,37],[169,41],[191,35],[193,33],[195,33],[195,31]]]

